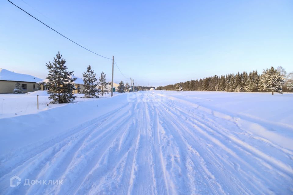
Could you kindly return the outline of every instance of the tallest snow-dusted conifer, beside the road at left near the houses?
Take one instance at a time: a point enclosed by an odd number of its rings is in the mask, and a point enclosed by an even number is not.
[[[47,69],[49,70],[49,74],[46,77],[48,79],[47,87],[49,99],[51,100],[51,104],[56,103],[69,103],[73,101],[76,96],[73,95],[73,90],[75,89],[72,84],[76,78],[71,78],[73,71],[68,72],[65,64],[65,59],[61,59],[62,55],[58,51],[56,54],[56,58],[54,61],[49,64],[47,63]]]

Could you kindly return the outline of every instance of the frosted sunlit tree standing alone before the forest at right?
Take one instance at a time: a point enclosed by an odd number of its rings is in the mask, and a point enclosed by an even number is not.
[[[263,70],[261,82],[262,89],[271,91],[272,95],[274,94],[274,91],[283,94],[282,85],[284,83],[284,77],[277,71],[277,69],[274,69],[273,66],[270,69]]]

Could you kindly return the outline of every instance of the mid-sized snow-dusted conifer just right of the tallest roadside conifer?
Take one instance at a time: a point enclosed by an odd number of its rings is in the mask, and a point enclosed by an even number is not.
[[[96,78],[96,74],[91,66],[87,67],[86,72],[82,73],[83,76],[83,87],[84,89],[81,90],[81,93],[85,94],[84,98],[99,98],[97,95],[99,93],[96,82],[98,79]]]

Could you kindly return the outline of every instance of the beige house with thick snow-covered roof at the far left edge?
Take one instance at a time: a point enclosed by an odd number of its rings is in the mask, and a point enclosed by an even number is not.
[[[42,79],[28,74],[14,73],[0,68],[0,94],[13,93],[16,82],[22,86],[24,93],[38,90],[37,82]]]

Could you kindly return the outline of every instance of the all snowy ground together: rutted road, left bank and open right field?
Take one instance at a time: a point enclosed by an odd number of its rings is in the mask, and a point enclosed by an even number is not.
[[[292,102],[145,91],[13,117],[4,109],[0,193],[292,194]],[[13,176],[21,181],[10,187]]]

